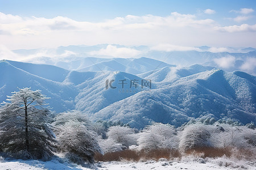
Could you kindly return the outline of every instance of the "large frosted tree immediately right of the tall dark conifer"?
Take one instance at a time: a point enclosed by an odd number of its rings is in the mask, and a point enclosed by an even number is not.
[[[94,154],[100,152],[97,133],[90,130],[92,123],[79,111],[59,113],[52,123],[55,126],[59,150],[73,162],[94,163]]]

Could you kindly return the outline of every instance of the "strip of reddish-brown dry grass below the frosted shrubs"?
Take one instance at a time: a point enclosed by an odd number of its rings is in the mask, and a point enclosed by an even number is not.
[[[255,158],[253,151],[246,148],[214,148],[214,147],[197,147],[191,150],[187,150],[184,156],[195,155],[201,158],[218,158],[222,156],[227,156],[228,158],[233,157],[237,159],[247,159]],[[134,151],[134,150],[123,150],[118,152],[108,152],[105,155],[96,154],[94,159],[101,162],[109,161],[146,161],[146,160],[159,160],[160,158],[165,158],[167,160],[173,158],[181,158],[181,153],[179,150],[175,149],[159,149],[150,151]]]

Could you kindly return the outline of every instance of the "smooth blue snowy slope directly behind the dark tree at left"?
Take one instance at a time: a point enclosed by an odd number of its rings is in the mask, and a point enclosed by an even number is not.
[[[48,66],[47,66],[48,67]],[[44,68],[45,71],[47,67]],[[29,67],[27,67],[29,69]],[[44,70],[42,69],[42,71]],[[56,69],[56,68],[54,68]],[[51,99],[46,102],[54,108],[53,111],[62,112],[74,108],[73,99],[78,94],[78,90],[71,83],[60,83],[38,75],[34,75],[11,65],[8,61],[0,62],[0,101],[6,100],[6,96],[10,96],[11,92],[18,91],[18,88],[31,87],[32,90],[41,90],[42,94]],[[56,70],[55,70],[56,71]],[[52,77],[60,74],[59,72],[49,71]],[[56,75],[54,75],[56,74]]]

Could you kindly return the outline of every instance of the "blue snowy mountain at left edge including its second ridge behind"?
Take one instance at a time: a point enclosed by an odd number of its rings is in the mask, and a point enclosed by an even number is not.
[[[44,95],[51,97],[47,102],[54,108],[53,111],[62,112],[67,109],[74,109],[73,99],[79,94],[79,90],[72,83],[59,82],[63,81],[61,79],[65,77],[67,70],[49,65],[1,61],[0,71],[2,73],[0,74],[1,103],[6,100],[7,95],[11,95],[11,92],[18,91],[17,87],[31,87],[32,90],[42,90]]]

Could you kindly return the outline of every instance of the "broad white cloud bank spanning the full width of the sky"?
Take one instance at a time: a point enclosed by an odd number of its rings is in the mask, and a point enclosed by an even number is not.
[[[255,35],[251,33],[254,25],[221,27],[212,19],[198,19],[196,15],[178,12],[165,17],[127,15],[96,23],[77,22],[63,16],[50,19],[34,16],[23,18],[1,13],[1,17],[5,19],[0,19],[0,44],[5,44],[10,49],[104,43],[251,46],[255,40]],[[243,32],[247,35],[233,36],[223,32]],[[172,46],[171,49],[175,50],[177,46]]]

